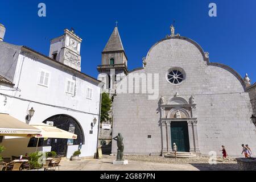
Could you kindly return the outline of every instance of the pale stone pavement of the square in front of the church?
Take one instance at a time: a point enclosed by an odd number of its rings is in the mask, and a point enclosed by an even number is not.
[[[64,160],[61,171],[199,171],[199,170],[238,170],[236,161],[223,163],[217,159],[216,165],[208,163],[209,158],[171,159],[160,156],[129,155],[125,166],[113,165],[115,156],[104,155],[103,159],[80,161]]]

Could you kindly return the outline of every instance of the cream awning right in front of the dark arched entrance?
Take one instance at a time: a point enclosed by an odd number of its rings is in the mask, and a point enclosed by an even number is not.
[[[69,133],[68,131],[58,129],[55,126],[46,125],[44,123],[30,125],[41,133],[36,135],[35,138],[66,138],[66,139],[77,139],[77,135]]]

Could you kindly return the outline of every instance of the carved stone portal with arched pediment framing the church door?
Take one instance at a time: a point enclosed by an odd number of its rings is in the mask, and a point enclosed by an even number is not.
[[[163,136],[162,154],[172,151],[172,142],[174,140],[179,141],[179,139],[187,142],[187,144],[184,144],[182,150],[200,153],[197,134],[196,104],[194,102],[189,104],[184,98],[175,96],[170,98],[167,104],[160,104],[160,109]],[[180,133],[180,135],[185,135],[184,138],[174,135],[175,132],[179,135],[179,129],[187,130],[184,133]],[[172,137],[176,137],[176,139]]]

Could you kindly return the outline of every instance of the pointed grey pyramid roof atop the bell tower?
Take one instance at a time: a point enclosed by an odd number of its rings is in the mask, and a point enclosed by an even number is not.
[[[109,51],[124,51],[117,27],[114,28],[114,31],[112,32],[112,35],[110,36],[109,41],[103,50],[103,52]]]

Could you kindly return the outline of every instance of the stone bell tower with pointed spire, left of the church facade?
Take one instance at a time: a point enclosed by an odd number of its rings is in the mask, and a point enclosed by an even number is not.
[[[104,91],[115,93],[115,85],[127,75],[127,56],[123,48],[117,26],[101,53],[101,65],[98,65],[98,80],[105,83]]]

